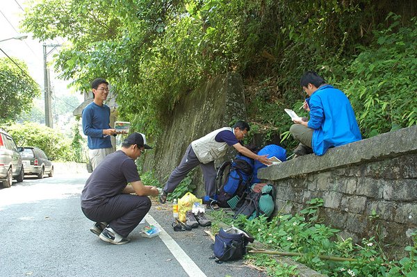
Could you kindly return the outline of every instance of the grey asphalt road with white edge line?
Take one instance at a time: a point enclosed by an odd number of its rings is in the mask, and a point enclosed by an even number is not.
[[[26,177],[0,189],[0,276],[265,276],[242,261],[208,259],[212,240],[204,228],[174,232],[170,205],[153,199],[146,219],[165,230],[142,237],[140,224],[124,245],[90,233],[80,208],[88,174]]]

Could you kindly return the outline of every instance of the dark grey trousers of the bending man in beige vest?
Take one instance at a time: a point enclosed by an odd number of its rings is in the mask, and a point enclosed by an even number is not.
[[[170,193],[175,190],[175,187],[183,181],[188,174],[194,167],[199,165],[203,171],[203,178],[204,178],[204,187],[206,188],[206,195],[214,196],[215,195],[215,167],[214,162],[208,162],[203,164],[200,162],[195,156],[193,151],[193,147],[191,144],[188,145],[186,153],[184,154],[181,162],[179,163],[178,167],[175,167],[174,171],[172,171],[170,178],[168,178],[165,187],[163,188],[164,192]]]

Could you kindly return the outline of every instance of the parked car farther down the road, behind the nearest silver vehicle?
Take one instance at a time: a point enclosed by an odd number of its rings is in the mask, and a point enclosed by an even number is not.
[[[19,151],[22,156],[24,174],[38,175],[38,178],[43,178],[44,174],[48,174],[49,177],[54,176],[54,165],[44,151],[36,147],[19,147]]]

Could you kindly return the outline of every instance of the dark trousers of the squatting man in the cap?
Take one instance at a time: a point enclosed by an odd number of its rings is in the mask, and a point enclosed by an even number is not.
[[[151,208],[147,196],[119,194],[95,208],[81,208],[85,217],[95,222],[107,222],[119,235],[127,237]]]

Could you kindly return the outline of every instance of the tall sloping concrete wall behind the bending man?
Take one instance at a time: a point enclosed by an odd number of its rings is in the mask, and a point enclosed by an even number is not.
[[[175,106],[160,140],[147,151],[143,168],[156,172],[165,183],[171,171],[179,165],[188,144],[215,129],[230,126],[234,119],[245,120],[245,96],[239,74],[223,74],[190,92]],[[229,149],[229,158],[234,149]],[[225,159],[227,159],[225,157]],[[216,164],[223,160],[216,160]],[[200,169],[194,171],[195,194],[204,196],[204,182]]]

